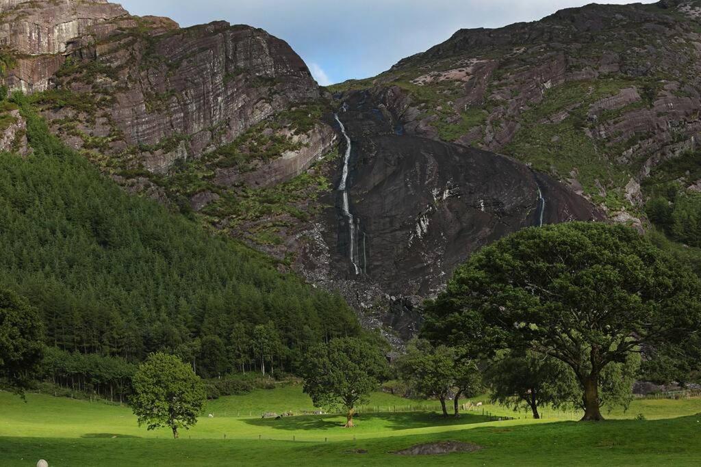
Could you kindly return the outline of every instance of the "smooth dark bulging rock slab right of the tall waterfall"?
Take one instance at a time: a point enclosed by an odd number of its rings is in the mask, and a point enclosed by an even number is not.
[[[545,222],[596,217],[564,186],[494,153],[396,135],[356,151],[362,267],[391,294],[433,295],[472,251],[539,225],[540,185]]]

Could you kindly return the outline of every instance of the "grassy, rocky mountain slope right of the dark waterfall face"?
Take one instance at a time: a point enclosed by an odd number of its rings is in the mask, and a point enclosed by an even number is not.
[[[651,167],[700,134],[700,13],[697,1],[592,4],[463,29],[338,89],[372,89],[406,132],[511,155],[631,219]]]

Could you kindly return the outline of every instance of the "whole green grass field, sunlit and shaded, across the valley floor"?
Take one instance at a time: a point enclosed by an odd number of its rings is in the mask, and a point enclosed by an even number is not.
[[[36,394],[28,394],[24,403],[0,393],[0,465],[34,466],[40,458],[50,466],[632,466],[697,465],[701,459],[701,416],[695,416],[701,412],[701,399],[636,400],[627,413],[613,412],[599,424],[577,423],[569,419],[578,414],[547,410],[546,418],[538,421],[494,405],[484,410],[520,418],[490,421],[482,407],[459,419],[443,419],[431,411],[399,412],[422,404],[430,403],[376,393],[350,430],[334,414],[261,419],[264,411],[313,409],[299,386],[283,386],[212,401],[207,413],[214,418],[200,418],[182,438],[172,440],[168,430],[137,426],[129,407]],[[370,406],[392,412],[369,412]],[[634,420],[637,414],[647,420]],[[444,456],[393,454],[439,440],[472,442],[483,449]]]

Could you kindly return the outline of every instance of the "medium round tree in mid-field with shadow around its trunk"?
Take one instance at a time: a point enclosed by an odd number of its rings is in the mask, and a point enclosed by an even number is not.
[[[317,407],[344,407],[346,428],[351,428],[355,408],[367,403],[387,369],[386,358],[370,342],[356,337],[333,339],[308,351],[304,392]]]

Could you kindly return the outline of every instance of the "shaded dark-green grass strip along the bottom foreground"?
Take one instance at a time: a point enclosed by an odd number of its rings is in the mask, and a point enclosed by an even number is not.
[[[424,442],[454,440],[484,447],[446,456],[393,452]],[[701,456],[697,417],[660,421],[479,426],[445,433],[339,442],[167,440],[139,438],[0,437],[0,464],[32,465],[696,465]],[[359,452],[367,451],[365,454]]]

